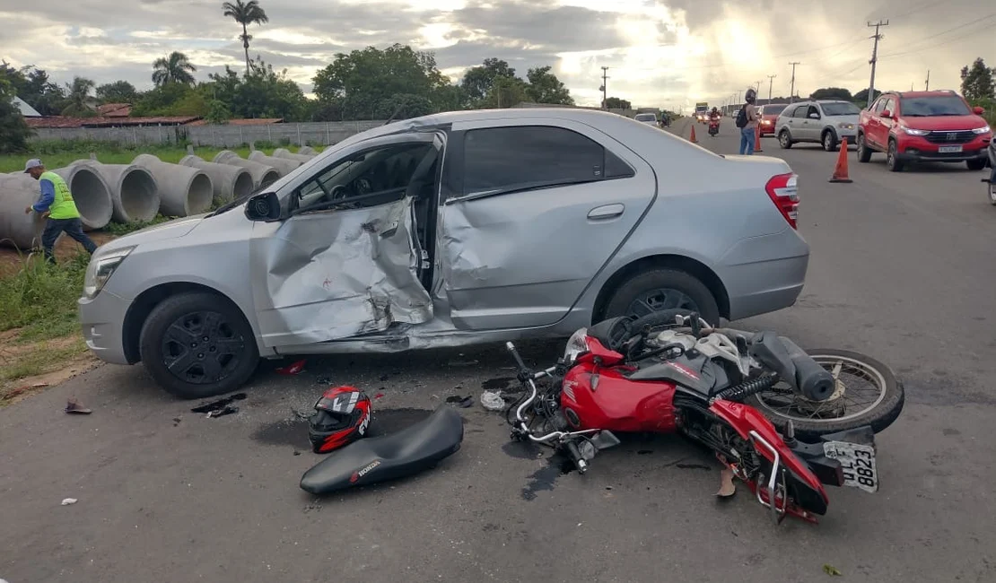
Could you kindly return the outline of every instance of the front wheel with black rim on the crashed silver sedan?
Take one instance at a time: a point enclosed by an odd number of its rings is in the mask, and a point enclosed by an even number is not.
[[[249,380],[260,361],[242,312],[205,291],[179,293],[152,308],[141,327],[138,350],[152,379],[181,399],[233,391]],[[187,360],[186,368],[172,372],[170,366],[183,366],[181,359]]]

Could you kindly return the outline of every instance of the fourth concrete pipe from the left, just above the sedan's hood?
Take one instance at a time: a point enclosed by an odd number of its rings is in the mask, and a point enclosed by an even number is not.
[[[214,187],[203,170],[169,164],[152,154],[138,154],[131,163],[152,173],[159,186],[159,210],[163,215],[188,217],[211,208]]]

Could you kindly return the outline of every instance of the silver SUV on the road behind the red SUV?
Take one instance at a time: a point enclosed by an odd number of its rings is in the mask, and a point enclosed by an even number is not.
[[[858,137],[861,108],[851,101],[818,99],[792,103],[782,110],[776,122],[778,144],[785,149],[799,142],[823,144],[836,151],[845,137],[850,145]]]

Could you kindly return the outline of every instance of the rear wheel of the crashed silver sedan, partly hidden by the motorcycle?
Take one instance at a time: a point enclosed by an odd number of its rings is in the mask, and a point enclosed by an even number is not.
[[[668,294],[668,291],[674,293]],[[671,303],[663,303],[659,299],[648,301],[647,296],[659,294]],[[677,305],[672,303],[677,301]],[[632,309],[637,302],[644,309]],[[705,287],[694,276],[678,270],[654,269],[642,272],[629,278],[610,297],[606,304],[605,316],[602,319],[621,315],[642,316],[656,309],[682,308],[698,311],[699,315],[712,325],[719,324],[719,305],[712,291]]]

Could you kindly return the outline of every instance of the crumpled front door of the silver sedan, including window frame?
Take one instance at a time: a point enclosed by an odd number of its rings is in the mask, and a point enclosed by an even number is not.
[[[433,132],[373,138],[290,185],[286,218],[256,223],[253,290],[267,346],[305,345],[432,318],[419,281],[412,184],[443,142]],[[427,178],[435,182],[435,176]]]

